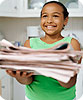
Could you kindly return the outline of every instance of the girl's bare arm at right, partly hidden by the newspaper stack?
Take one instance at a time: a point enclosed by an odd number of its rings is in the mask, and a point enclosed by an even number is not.
[[[72,45],[74,50],[81,51],[80,44],[76,39],[71,40],[71,45]],[[78,61],[78,63],[81,63],[81,59]],[[63,83],[63,82],[60,82],[60,81],[58,81],[58,82],[60,83],[61,86],[65,87],[65,88],[70,88],[70,87],[72,87],[76,84],[76,79],[77,79],[77,75],[72,77],[68,83]]]

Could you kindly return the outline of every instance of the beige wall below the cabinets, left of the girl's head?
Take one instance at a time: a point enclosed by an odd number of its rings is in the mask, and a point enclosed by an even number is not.
[[[37,26],[39,23],[39,18],[0,18],[0,32],[9,41],[18,40],[24,43],[27,26]]]

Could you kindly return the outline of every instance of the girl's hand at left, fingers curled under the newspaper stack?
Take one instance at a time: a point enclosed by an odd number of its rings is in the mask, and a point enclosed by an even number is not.
[[[12,71],[12,70],[6,70],[7,74],[9,74],[10,76],[16,78],[16,80],[18,82],[20,82],[21,84],[25,84],[25,85],[28,85],[28,84],[31,84],[32,81],[33,81],[33,78],[32,78],[32,75],[33,75],[33,72],[22,72],[22,71]]]

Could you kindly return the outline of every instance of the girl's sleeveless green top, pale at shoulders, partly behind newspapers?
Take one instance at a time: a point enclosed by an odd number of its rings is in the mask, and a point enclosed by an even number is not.
[[[31,38],[30,46],[32,49],[47,49],[60,42],[70,43],[71,39],[71,37],[65,37],[53,44],[47,44],[40,38]],[[34,75],[34,81],[25,88],[26,96],[30,100],[73,100],[75,91],[75,86],[64,88],[57,80],[43,75]]]

